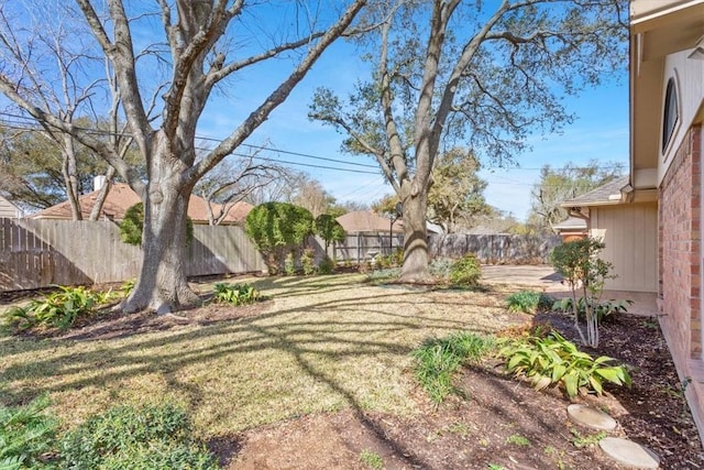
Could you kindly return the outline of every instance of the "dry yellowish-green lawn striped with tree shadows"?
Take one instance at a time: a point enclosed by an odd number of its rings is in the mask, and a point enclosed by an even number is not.
[[[238,278],[272,298],[261,314],[108,340],[2,337],[0,402],[47,392],[51,411],[73,426],[113,405],[169,400],[189,411],[201,437],[349,407],[413,414],[411,350],[428,338],[517,320],[498,291],[363,281]]]

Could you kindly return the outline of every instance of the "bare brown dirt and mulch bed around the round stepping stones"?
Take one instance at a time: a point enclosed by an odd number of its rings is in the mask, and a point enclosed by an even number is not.
[[[566,337],[570,321],[542,315]],[[603,328],[598,351],[631,367],[631,389],[581,396],[618,422],[612,436],[654,450],[663,469],[704,468],[701,441],[664,340],[651,318],[623,316]],[[301,416],[221,438],[211,446],[229,469],[365,469],[363,453],[386,469],[618,469],[595,444],[594,430],[571,424],[557,390],[536,392],[501,367],[468,368],[455,382],[464,397],[433,408],[417,391],[422,413],[399,418],[360,409]]]

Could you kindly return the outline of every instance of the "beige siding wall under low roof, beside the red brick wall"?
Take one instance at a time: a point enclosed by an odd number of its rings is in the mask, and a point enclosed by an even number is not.
[[[656,204],[627,204],[593,207],[592,236],[603,237],[602,258],[614,264],[613,291],[657,292],[658,207]]]

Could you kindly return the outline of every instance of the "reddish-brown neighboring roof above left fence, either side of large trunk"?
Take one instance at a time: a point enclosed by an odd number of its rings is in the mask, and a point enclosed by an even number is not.
[[[88,219],[90,216],[90,211],[92,210],[92,206],[98,197],[98,190],[95,190],[78,198],[80,211],[85,219]],[[140,197],[132,190],[132,188],[130,188],[130,186],[124,183],[116,183],[110,187],[110,192],[108,193],[108,197],[106,198],[100,212],[100,218],[120,221],[124,218],[124,212],[140,201]],[[219,204],[211,204],[211,206],[217,216],[221,206]],[[232,206],[224,220],[220,223],[243,223],[246,215],[250,214],[250,210],[252,210],[252,205],[243,201],[237,203]],[[208,208],[204,198],[194,195],[190,196],[190,200],[188,201],[188,217],[190,217],[194,223],[208,223]],[[70,205],[66,200],[34,214],[32,218],[57,220],[70,219]]]

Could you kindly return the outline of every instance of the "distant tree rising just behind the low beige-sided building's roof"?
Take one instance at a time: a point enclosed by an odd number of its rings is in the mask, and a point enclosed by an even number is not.
[[[578,166],[568,163],[561,168],[544,165],[540,170],[540,182],[530,192],[528,226],[535,231],[551,232],[552,226],[566,219],[566,209],[560,205],[609,183],[625,172],[623,164],[591,161]]]

